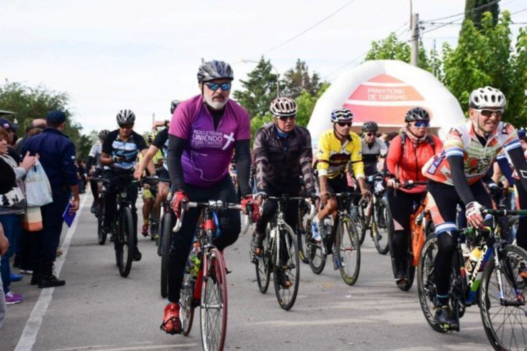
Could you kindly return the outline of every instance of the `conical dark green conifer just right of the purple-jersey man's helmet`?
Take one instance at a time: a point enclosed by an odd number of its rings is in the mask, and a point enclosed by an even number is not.
[[[270,60],[262,56],[258,65],[248,73],[247,80],[240,80],[244,90],[236,90],[233,97],[246,108],[251,118],[264,115],[277,97],[277,75],[272,73]]]

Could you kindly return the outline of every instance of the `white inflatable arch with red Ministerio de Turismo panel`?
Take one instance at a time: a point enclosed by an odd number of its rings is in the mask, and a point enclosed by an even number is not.
[[[307,128],[313,145],[318,136],[331,129],[331,110],[344,106],[353,112],[353,130],[375,121],[381,132],[393,132],[404,125],[410,108],[430,112],[430,130],[443,137],[465,116],[454,95],[434,75],[397,60],[366,61],[342,73],[318,99]]]

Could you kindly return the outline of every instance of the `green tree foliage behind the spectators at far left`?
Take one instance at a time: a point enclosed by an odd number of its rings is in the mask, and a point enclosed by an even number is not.
[[[64,111],[68,117],[64,133],[75,143],[78,158],[86,158],[91,144],[89,138],[82,138],[82,126],[72,118],[69,104],[70,97],[67,93],[58,93],[42,85],[31,88],[5,80],[5,84],[0,86],[0,109],[16,112],[16,121],[22,131],[33,119],[45,119],[49,110]]]

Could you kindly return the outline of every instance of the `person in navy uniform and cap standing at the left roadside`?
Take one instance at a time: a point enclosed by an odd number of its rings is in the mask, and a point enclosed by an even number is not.
[[[40,155],[40,163],[46,172],[53,202],[42,206],[43,230],[35,233],[35,267],[31,283],[39,288],[61,287],[65,280],[53,274],[53,263],[62,232],[62,214],[71,200],[71,212],[79,208],[79,188],[75,168],[75,145],[62,134],[66,125],[66,114],[59,110],[47,113],[47,128],[42,133],[27,139],[23,154]]]

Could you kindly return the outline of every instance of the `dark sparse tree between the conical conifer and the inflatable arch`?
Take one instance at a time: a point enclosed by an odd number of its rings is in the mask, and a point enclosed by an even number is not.
[[[305,61],[299,58],[296,60],[294,68],[285,71],[281,82],[284,88],[280,95],[288,96],[292,99],[299,97],[303,90],[315,96],[323,84],[320,81],[318,73],[314,72],[312,75],[309,75],[309,67]]]

